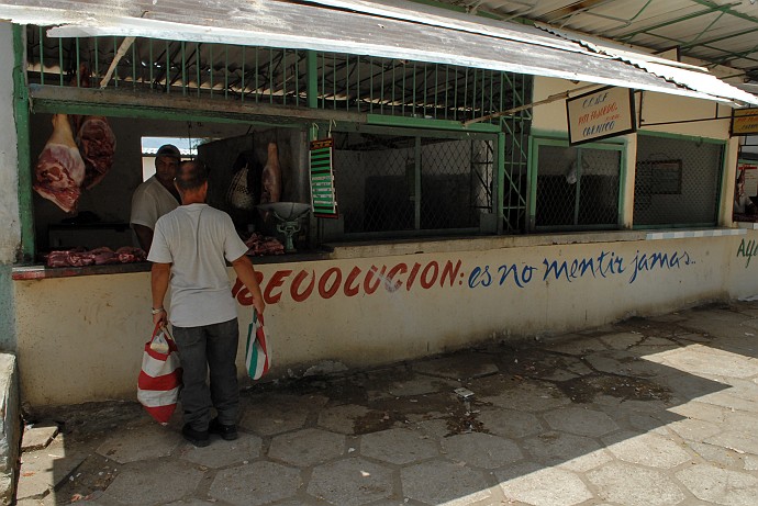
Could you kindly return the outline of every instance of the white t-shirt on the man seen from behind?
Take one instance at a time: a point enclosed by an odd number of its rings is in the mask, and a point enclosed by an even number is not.
[[[224,260],[247,249],[228,214],[208,204],[180,205],[158,218],[147,259],[172,263],[171,324],[199,327],[236,318]]]

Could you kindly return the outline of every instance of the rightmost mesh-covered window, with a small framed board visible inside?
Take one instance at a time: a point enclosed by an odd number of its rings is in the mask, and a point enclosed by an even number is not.
[[[639,134],[635,226],[715,225],[724,144]]]

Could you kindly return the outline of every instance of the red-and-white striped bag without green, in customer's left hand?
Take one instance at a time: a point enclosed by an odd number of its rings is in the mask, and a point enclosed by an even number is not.
[[[181,367],[177,345],[168,328],[158,324],[151,340],[145,342],[137,380],[137,400],[153,418],[167,425],[177,407],[180,389]]]

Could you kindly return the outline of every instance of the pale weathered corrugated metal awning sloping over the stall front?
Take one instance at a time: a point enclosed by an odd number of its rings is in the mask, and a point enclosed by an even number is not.
[[[339,7],[336,1],[312,3]],[[662,72],[654,75],[639,68],[642,66],[627,65],[616,55],[598,53],[533,26],[490,21],[475,23],[480,21],[477,18],[468,22],[447,10],[410,2],[345,0],[343,3],[349,3],[350,10],[257,0],[16,1],[13,4],[0,2],[0,16],[20,23],[66,24],[51,30],[53,36],[152,36],[297,47],[758,103],[756,97],[726,85],[704,87],[699,72],[680,69],[676,81],[669,81],[658,77]]]

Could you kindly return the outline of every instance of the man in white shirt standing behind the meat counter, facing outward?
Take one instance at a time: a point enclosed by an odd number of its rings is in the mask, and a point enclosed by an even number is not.
[[[179,192],[174,177],[181,161],[179,149],[171,145],[160,146],[155,157],[155,176],[137,187],[132,195],[130,223],[140,247],[149,251],[155,222],[179,206]]]

